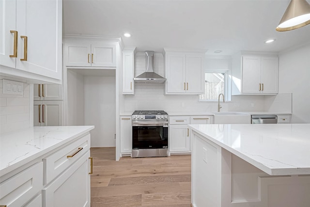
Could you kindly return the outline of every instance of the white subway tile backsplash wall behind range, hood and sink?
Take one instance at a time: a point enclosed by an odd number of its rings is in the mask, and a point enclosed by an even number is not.
[[[230,69],[230,60],[210,60],[207,69]],[[137,53],[135,56],[135,76],[145,71],[145,55]],[[164,58],[162,54],[155,54],[154,72],[165,77]],[[164,110],[169,114],[205,113],[217,111],[217,102],[199,102],[198,95],[165,95],[165,84],[137,84],[135,95],[123,95],[124,103],[121,113],[132,113],[135,110]],[[236,104],[235,104],[236,103]],[[254,107],[252,107],[252,103]],[[221,111],[264,111],[264,96],[233,96],[232,102],[221,103]]]

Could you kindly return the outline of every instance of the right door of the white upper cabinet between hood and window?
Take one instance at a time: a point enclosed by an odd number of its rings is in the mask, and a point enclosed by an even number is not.
[[[204,93],[202,64],[202,55],[186,55],[186,93]]]

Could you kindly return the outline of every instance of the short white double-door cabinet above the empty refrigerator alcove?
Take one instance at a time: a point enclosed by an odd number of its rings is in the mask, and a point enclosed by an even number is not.
[[[65,66],[116,67],[116,45],[97,40],[66,40],[64,58]]]

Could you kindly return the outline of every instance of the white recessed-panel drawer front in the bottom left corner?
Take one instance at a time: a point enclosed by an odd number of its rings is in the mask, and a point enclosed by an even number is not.
[[[0,205],[24,206],[42,187],[43,162],[39,162],[0,183]]]

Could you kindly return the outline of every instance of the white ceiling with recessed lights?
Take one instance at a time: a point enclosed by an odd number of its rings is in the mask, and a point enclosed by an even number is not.
[[[137,47],[138,52],[163,48],[205,49],[207,55],[279,52],[310,42],[310,25],[276,31],[289,1],[63,0],[63,33],[122,36],[124,46]],[[124,32],[132,37],[124,37]],[[269,38],[277,40],[264,44]]]

